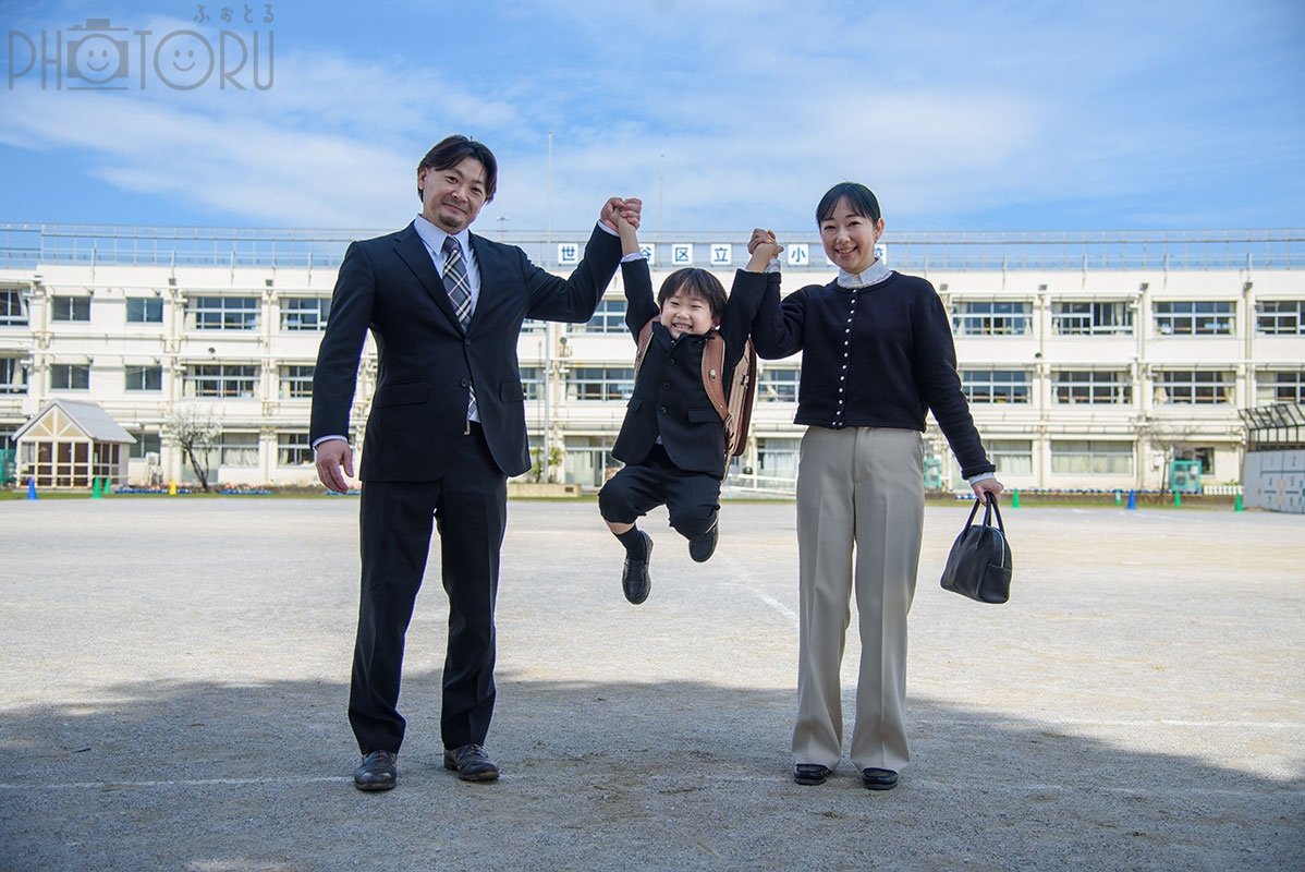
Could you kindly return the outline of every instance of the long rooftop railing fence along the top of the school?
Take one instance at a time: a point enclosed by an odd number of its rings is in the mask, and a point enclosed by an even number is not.
[[[137,227],[0,223],[0,268],[40,264],[335,269],[348,243],[377,230],[268,227]],[[545,268],[566,269],[589,230],[493,231],[484,236],[526,251]],[[641,234],[655,269],[731,269],[748,260],[746,232]],[[831,268],[813,231],[779,234],[786,270]],[[1056,232],[889,231],[885,261],[929,270],[1215,270],[1302,269],[1305,230],[1101,230]],[[685,248],[688,247],[688,248]]]

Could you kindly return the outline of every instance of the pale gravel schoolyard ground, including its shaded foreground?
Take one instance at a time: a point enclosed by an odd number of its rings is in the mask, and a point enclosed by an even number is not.
[[[914,760],[870,792],[846,758],[823,786],[791,779],[792,504],[727,504],[703,565],[651,516],[633,607],[596,505],[513,503],[504,777],[440,765],[436,548],[399,786],[364,795],[345,718],[356,514],[0,503],[0,868],[1305,868],[1298,516],[1007,509],[1014,595],[981,606],[937,586],[966,509],[928,508]],[[847,649],[850,713],[855,632]]]

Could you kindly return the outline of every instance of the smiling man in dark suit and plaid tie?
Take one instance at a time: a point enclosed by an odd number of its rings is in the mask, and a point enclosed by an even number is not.
[[[431,149],[416,171],[422,214],[345,253],[317,354],[311,439],[318,476],[339,492],[354,475],[347,435],[368,329],[380,355],[359,466],[361,602],[348,702],[363,753],[359,790],[398,779],[403,638],[432,517],[449,597],[444,765],[463,781],[499,777],[483,748],[495,702],[499,552],[508,476],[530,469],[517,337],[525,319],[587,321],[621,257],[617,211],[639,218],[638,200],[608,200],[583,261],[562,279],[519,248],[468,231],[496,183],[485,145],[450,136]]]

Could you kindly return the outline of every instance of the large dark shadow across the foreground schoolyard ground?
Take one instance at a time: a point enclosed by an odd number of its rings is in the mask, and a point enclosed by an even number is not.
[[[120,684],[0,726],[5,869],[1300,869],[1305,783],[911,702],[886,794],[790,779],[788,692],[500,676],[495,785],[440,768],[407,676],[399,788],[356,792],[339,684]]]

